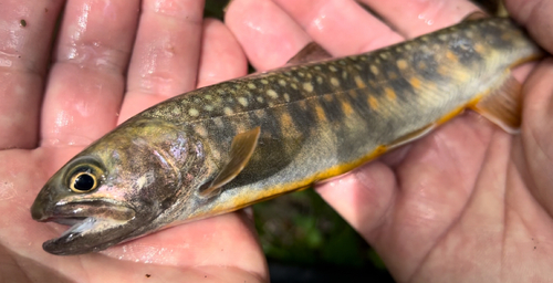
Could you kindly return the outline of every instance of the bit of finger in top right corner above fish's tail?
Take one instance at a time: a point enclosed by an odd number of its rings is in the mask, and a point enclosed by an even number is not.
[[[532,39],[534,39],[549,53],[553,53],[553,36],[551,36],[552,1],[541,0],[505,0],[505,7],[517,21],[522,23]]]

